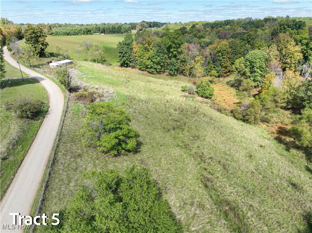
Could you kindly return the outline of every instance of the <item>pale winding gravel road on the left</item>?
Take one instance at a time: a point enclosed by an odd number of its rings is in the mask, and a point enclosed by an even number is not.
[[[17,62],[4,47],[4,59],[18,68]],[[54,138],[61,120],[64,105],[64,95],[61,89],[48,78],[21,65],[23,72],[39,80],[49,96],[49,111],[44,119],[37,136],[32,143],[24,161],[18,169],[10,187],[0,203],[0,232],[22,232],[22,230],[3,230],[3,224],[13,224],[13,216],[9,213],[28,215],[35,194],[40,184],[43,172],[53,146]],[[21,80],[22,82],[22,80]],[[18,224],[18,223],[17,223]]]

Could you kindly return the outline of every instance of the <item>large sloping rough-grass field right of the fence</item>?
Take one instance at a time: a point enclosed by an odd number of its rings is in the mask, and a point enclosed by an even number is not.
[[[112,102],[132,116],[139,147],[115,157],[85,147],[78,133],[84,107],[70,102],[42,212],[62,210],[85,170],[139,164],[152,171],[184,232],[311,232],[307,155],[184,95],[185,80],[85,62],[78,69],[82,81],[114,88]]]

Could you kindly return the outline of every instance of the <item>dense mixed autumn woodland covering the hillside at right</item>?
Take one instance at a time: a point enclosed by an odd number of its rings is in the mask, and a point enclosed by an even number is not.
[[[184,25],[140,30],[134,39],[127,35],[117,45],[120,65],[152,74],[183,75],[196,85],[205,77],[213,83],[231,75],[227,84],[241,96],[231,113],[236,119],[270,123],[277,109],[301,111],[288,133],[299,144],[312,145],[309,17],[268,16]],[[196,87],[183,86],[182,90],[191,94]]]

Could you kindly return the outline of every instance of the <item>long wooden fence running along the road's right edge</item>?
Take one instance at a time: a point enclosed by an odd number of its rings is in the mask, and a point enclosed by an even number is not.
[[[62,117],[61,117],[60,126],[59,126],[59,129],[58,129],[57,135],[56,135],[56,140],[55,140],[54,145],[52,147],[52,156],[51,156],[51,159],[50,159],[50,165],[49,165],[49,169],[47,171],[46,179],[43,182],[43,188],[42,188],[42,192],[41,192],[41,195],[40,195],[40,198],[39,198],[39,203],[38,203],[38,206],[37,206],[37,209],[36,209],[35,216],[39,215],[39,210],[40,210],[40,207],[41,207],[41,204],[42,204],[43,194],[44,194],[44,191],[46,189],[46,183],[48,182],[50,171],[52,169],[54,154],[55,154],[55,151],[56,151],[57,144],[59,142],[59,138],[60,138],[60,134],[61,134],[61,130],[62,130],[62,127],[63,127],[63,122],[64,122],[66,110],[67,110],[68,99],[69,99],[69,93],[67,93],[67,99],[66,99],[66,102],[65,102],[65,105],[64,105],[64,110],[63,110],[63,114],[62,114]],[[36,226],[35,224],[32,225],[32,227],[30,228],[30,231],[29,231],[30,233],[32,233],[34,231],[35,226]]]

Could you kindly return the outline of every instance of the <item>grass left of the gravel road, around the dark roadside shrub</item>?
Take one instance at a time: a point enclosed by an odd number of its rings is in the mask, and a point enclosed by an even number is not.
[[[5,157],[1,161],[0,194],[2,198],[45,116],[45,114],[41,114],[35,120],[18,119],[3,106],[7,102],[14,101],[17,97],[35,98],[47,102],[48,95],[43,86],[33,78],[27,78],[24,82],[22,79],[12,79],[10,84],[8,81],[2,80],[0,84],[2,87],[0,105],[1,157]]]

